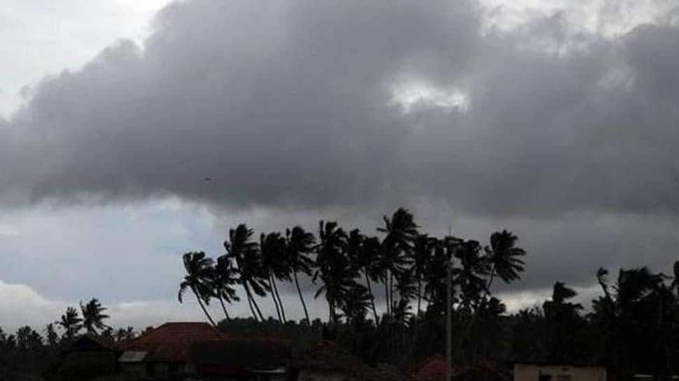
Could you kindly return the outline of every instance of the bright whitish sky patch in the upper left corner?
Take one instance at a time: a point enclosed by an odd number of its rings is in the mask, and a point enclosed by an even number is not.
[[[3,0],[0,2],[0,117],[43,76],[78,69],[107,45],[141,44],[169,0]]]

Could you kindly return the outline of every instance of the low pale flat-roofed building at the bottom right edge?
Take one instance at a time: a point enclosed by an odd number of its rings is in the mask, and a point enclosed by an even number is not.
[[[605,366],[514,362],[514,381],[606,381]]]

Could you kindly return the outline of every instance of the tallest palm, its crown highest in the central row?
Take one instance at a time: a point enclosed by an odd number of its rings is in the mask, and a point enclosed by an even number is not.
[[[384,227],[377,228],[377,231],[385,234],[381,245],[381,258],[383,260],[387,314],[389,315],[393,306],[393,278],[409,262],[409,253],[412,251],[418,227],[412,214],[404,208],[398,208],[391,217],[385,215],[383,220]]]

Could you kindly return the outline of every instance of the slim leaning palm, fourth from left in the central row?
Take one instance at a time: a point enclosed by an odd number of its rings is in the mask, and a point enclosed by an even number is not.
[[[267,282],[271,289],[271,298],[276,306],[276,314],[281,323],[286,322],[285,310],[281,296],[276,286],[276,278],[290,280],[285,260],[286,240],[281,233],[269,233],[260,235],[260,250],[262,255],[262,268],[267,272]]]

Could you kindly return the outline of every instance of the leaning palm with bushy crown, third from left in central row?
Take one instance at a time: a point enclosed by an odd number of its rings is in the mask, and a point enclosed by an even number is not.
[[[258,243],[252,240],[253,231],[246,224],[239,224],[229,231],[229,240],[224,248],[229,257],[235,259],[240,274],[241,285],[245,289],[250,310],[255,319],[263,322],[264,315],[253,295],[266,296],[269,291],[267,273],[262,268],[261,252]],[[255,311],[257,312],[255,314]]]

